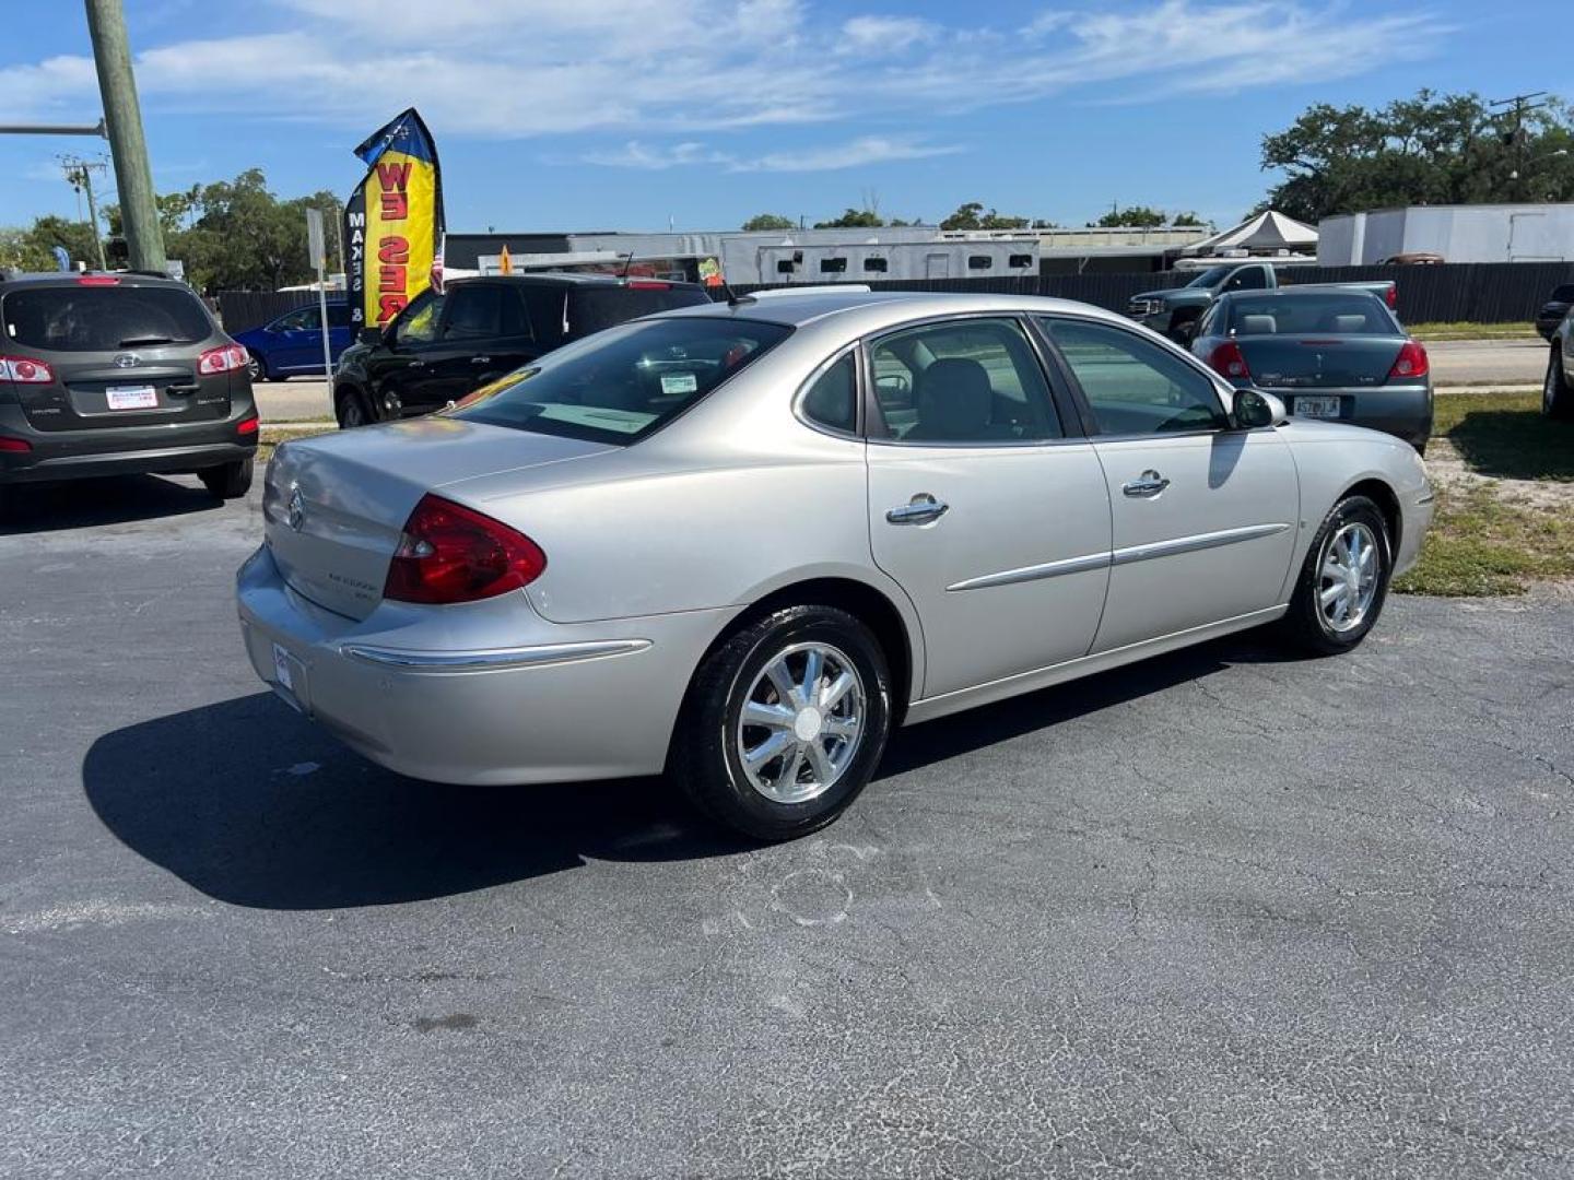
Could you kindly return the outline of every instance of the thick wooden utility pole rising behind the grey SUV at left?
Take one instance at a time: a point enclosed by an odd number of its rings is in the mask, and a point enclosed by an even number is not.
[[[142,107],[137,79],[131,72],[131,42],[120,0],[87,0],[88,35],[104,98],[104,123],[115,157],[115,186],[120,189],[120,216],[134,271],[164,271],[164,231],[159,205],[153,197],[148,143],[142,135]]]

